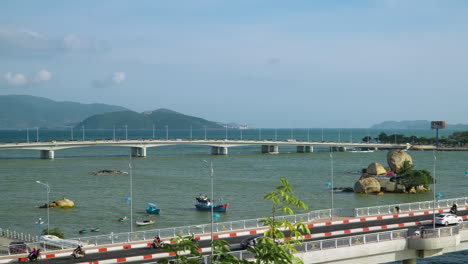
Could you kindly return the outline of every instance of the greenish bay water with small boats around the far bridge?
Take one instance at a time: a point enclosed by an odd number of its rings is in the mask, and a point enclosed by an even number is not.
[[[36,140],[37,131],[29,130],[29,140]],[[82,131],[74,131],[74,139]],[[125,138],[125,131],[116,131],[117,138]],[[152,138],[153,131],[128,131],[128,138]],[[204,138],[204,130],[155,131],[156,138]],[[327,129],[325,141],[360,141],[381,131],[365,129]],[[385,131],[393,134],[393,131]],[[433,136],[433,131],[396,131],[398,134]],[[27,141],[27,131],[0,131],[1,142]],[[85,131],[85,139],[113,138],[114,131]],[[228,130],[228,138],[240,138],[239,130]],[[449,132],[445,132],[450,134]],[[209,130],[208,138],[226,138],[225,130]],[[243,139],[321,140],[321,129],[256,129],[242,131]],[[71,132],[63,130],[39,130],[39,140],[70,140]],[[318,149],[320,151],[320,149]],[[37,234],[35,221],[47,218],[47,210],[38,209],[46,202],[46,188],[37,184],[40,180],[51,187],[50,200],[66,197],[75,202],[71,210],[50,210],[50,226],[59,227],[66,237],[78,237],[78,230],[99,227],[101,234],[126,232],[130,223],[118,222],[129,216],[130,206],[125,197],[130,196],[129,175],[90,174],[102,169],[129,171],[132,164],[133,207],[135,219],[147,219],[146,203],[153,202],[162,208],[161,215],[150,216],[163,228],[210,221],[209,213],[194,209],[194,196],[209,194],[210,170],[206,161],[212,161],[215,171],[215,197],[223,197],[231,204],[230,211],[219,221],[258,218],[269,214],[270,204],[264,194],[279,185],[278,178],[287,178],[297,194],[311,210],[330,207],[330,193],[326,183],[331,181],[331,158],[328,152],[295,153],[294,148],[281,148],[280,154],[260,154],[260,146],[235,147],[227,156],[209,155],[209,147],[179,146],[148,149],[146,158],[129,158],[125,147],[75,148],[56,151],[55,160],[39,159],[37,150],[0,151],[0,227]],[[468,196],[468,182],[464,172],[468,170],[467,152],[438,152],[434,163],[432,152],[409,152],[417,169],[433,172],[436,166],[437,190],[444,198]],[[386,151],[374,153],[334,153],[333,171],[336,187],[353,186],[358,175],[346,172],[358,171],[371,162],[386,164]],[[362,207],[393,203],[431,200],[432,193],[384,196],[337,193],[335,207]],[[139,228],[139,229],[144,229]],[[136,227],[135,227],[136,229]],[[466,252],[444,255],[444,263],[463,263]],[[447,259],[448,258],[448,259]],[[437,262],[438,260],[439,262]],[[421,260],[418,263],[441,263],[442,258]],[[434,262],[436,261],[436,262]],[[452,261],[452,262],[449,262]]]

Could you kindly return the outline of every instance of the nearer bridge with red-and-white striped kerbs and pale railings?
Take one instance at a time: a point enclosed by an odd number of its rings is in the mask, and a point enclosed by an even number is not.
[[[296,247],[298,252],[295,253],[306,264],[392,261],[412,264],[416,263],[416,258],[468,249],[468,222],[432,228],[434,214],[447,212],[453,203],[458,204],[459,215],[467,220],[468,197],[355,209],[316,210],[286,217],[293,223],[305,223],[311,231],[310,235],[305,236],[306,241]],[[396,206],[400,208],[399,211],[396,211]],[[266,228],[261,226],[260,220],[263,219],[215,223],[213,238],[223,238],[230,242],[232,254],[237,257],[254,259],[251,252],[240,250],[238,243],[247,236],[265,232]],[[424,235],[416,235],[414,232],[420,226],[426,227]],[[66,243],[58,245],[58,250],[47,250],[44,242],[30,246],[45,248],[45,260],[39,263],[154,263],[157,259],[171,256],[171,253],[161,250],[149,251],[154,236],[169,241],[176,235],[194,233],[199,240],[200,252],[205,253],[204,262],[210,263],[210,232],[211,225],[204,224],[71,239],[87,245],[85,261],[73,260],[70,257],[72,248],[67,247]],[[5,251],[0,248],[0,252]],[[24,254],[0,255],[0,263],[21,261],[24,258]]]

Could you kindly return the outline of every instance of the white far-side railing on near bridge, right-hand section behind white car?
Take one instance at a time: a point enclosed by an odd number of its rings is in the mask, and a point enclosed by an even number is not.
[[[468,205],[468,197],[436,200],[435,208],[437,209],[437,208],[451,207],[454,203],[457,205],[466,206]],[[413,211],[433,209],[434,202],[423,201],[423,202],[414,202],[414,203],[391,204],[391,205],[355,208],[354,216],[359,217],[359,216],[380,215],[380,214],[393,214],[393,213],[396,213],[397,206],[400,208],[400,213],[413,212]]]

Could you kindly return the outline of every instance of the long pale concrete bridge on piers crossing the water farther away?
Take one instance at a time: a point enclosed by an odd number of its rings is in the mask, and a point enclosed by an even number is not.
[[[328,147],[333,151],[346,151],[347,148],[365,149],[409,149],[411,145],[388,144],[388,143],[352,143],[352,142],[325,142],[325,141],[297,141],[289,139],[286,141],[277,140],[93,140],[93,141],[50,141],[50,142],[29,142],[29,143],[4,143],[0,144],[0,150],[7,149],[30,149],[39,150],[42,159],[54,159],[55,151],[68,148],[80,147],[130,147],[133,157],[146,157],[147,149],[161,146],[177,145],[198,145],[211,148],[213,155],[227,155],[228,148],[239,146],[261,146],[262,153],[278,153],[279,147],[296,147],[299,153],[309,153],[314,151],[314,147]]]

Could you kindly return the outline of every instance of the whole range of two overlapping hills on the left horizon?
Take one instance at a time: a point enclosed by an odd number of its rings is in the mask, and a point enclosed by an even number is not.
[[[0,129],[66,128],[87,129],[221,128],[220,123],[184,115],[169,109],[137,113],[121,106],[57,102],[30,95],[0,96]]]

